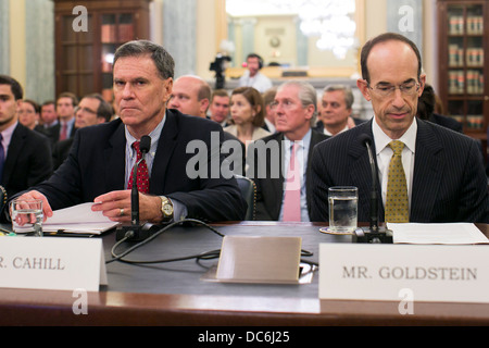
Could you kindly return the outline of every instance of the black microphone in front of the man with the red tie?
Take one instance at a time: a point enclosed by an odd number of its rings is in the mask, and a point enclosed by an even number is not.
[[[133,167],[133,188],[130,190],[130,225],[122,225],[116,228],[116,240],[127,238],[131,241],[139,241],[148,238],[154,231],[160,227],[151,223],[139,224],[139,191],[137,185],[137,172],[139,164],[145,160],[145,156],[151,149],[151,138],[147,135],[141,137],[139,142],[139,150],[141,151],[141,159],[137,161]]]

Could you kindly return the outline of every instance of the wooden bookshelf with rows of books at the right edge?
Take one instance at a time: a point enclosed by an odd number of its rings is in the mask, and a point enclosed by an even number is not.
[[[487,147],[489,1],[438,0],[439,95],[446,115]],[[486,151],[485,151],[486,152]]]

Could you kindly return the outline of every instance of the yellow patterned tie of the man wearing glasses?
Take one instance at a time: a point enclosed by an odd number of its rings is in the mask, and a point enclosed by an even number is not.
[[[389,144],[393,154],[389,164],[387,181],[386,222],[409,222],[408,185],[402,167],[402,149],[404,144],[393,140]]]

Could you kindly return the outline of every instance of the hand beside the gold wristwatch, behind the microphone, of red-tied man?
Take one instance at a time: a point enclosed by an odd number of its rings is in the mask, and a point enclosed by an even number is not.
[[[93,200],[93,211],[102,211],[104,216],[116,222],[130,222],[130,189],[112,191]],[[139,194],[139,220],[161,221],[161,199],[158,196]]]

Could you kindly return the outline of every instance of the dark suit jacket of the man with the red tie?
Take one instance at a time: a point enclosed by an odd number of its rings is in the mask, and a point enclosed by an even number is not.
[[[242,220],[247,204],[234,177],[190,178],[187,144],[202,140],[211,150],[211,132],[223,129],[215,122],[166,111],[166,121],[158,144],[150,178],[150,195],[165,195],[188,209],[188,217],[203,221]],[[217,144],[218,147],[218,144]],[[90,202],[102,194],[124,189],[126,138],[121,120],[80,128],[66,161],[52,177],[36,186],[53,210]],[[211,172],[211,159],[209,172]],[[220,158],[221,163],[223,157]]]

